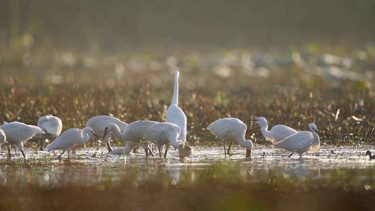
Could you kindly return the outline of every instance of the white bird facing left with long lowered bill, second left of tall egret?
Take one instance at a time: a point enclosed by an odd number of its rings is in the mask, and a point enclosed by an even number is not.
[[[132,122],[129,125],[127,125],[127,127],[125,128],[125,130],[122,133],[121,133],[120,128],[118,127],[117,124],[108,123],[105,126],[102,140],[104,140],[105,137],[108,135],[108,133],[111,132],[120,141],[123,141],[123,142],[125,142],[125,141],[132,141],[132,142],[137,143],[137,145],[139,145],[139,143],[143,139],[144,134],[146,133],[146,131],[148,130],[148,128],[151,125],[158,124],[158,123],[159,122],[148,121],[148,120],[135,121],[135,122]],[[135,145],[135,146],[137,146],[137,145]],[[126,146],[127,146],[127,144],[126,144]],[[126,148],[126,146],[125,146],[125,148]],[[133,146],[133,145],[132,144],[129,145],[129,147],[127,147],[126,150],[129,150],[130,146]],[[135,146],[133,146],[133,148]],[[154,154],[152,153],[151,149],[149,148],[149,143],[142,143],[142,146],[143,146],[143,148],[144,148],[144,150],[146,152],[146,157],[148,157],[148,151],[150,152],[150,154],[152,156],[154,156]],[[132,149],[130,149],[130,151]],[[127,152],[127,153],[129,153],[129,152]]]

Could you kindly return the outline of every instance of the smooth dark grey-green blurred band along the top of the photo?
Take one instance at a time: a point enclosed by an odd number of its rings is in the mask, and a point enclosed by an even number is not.
[[[1,5],[0,38],[28,33],[42,44],[263,45],[375,36],[374,0],[7,0]]]

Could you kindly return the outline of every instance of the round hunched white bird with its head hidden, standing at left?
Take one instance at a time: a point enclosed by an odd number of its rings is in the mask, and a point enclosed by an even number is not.
[[[52,115],[46,115],[39,118],[38,127],[40,127],[45,134],[41,135],[40,150],[43,151],[43,145],[46,139],[54,141],[61,134],[63,123],[60,118]]]

